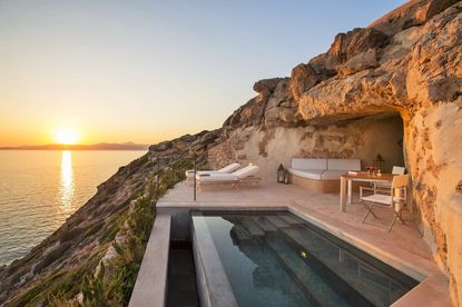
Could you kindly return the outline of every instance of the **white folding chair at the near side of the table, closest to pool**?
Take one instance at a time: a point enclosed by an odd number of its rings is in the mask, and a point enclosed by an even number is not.
[[[395,177],[393,177],[393,181],[387,194],[385,194],[384,189],[360,187],[361,202],[368,204],[367,212],[365,214],[363,218],[363,222],[366,220],[370,214],[374,216],[375,218],[377,218],[376,215],[372,211],[372,208],[374,206],[377,206],[377,207],[390,207],[394,212],[393,220],[389,226],[389,232],[392,230],[393,225],[395,224],[396,219],[399,219],[402,224],[404,224],[404,220],[401,215],[402,215],[404,204],[406,202],[407,181],[409,181],[409,174],[396,175]],[[364,196],[364,190],[372,190],[374,194]]]

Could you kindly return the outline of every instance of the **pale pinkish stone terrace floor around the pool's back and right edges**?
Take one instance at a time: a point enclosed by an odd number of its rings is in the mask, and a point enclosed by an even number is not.
[[[259,187],[206,187],[193,200],[193,188],[185,182],[170,189],[157,202],[158,214],[170,209],[288,209],[334,232],[395,268],[423,280],[395,304],[396,306],[451,306],[448,278],[434,263],[431,250],[412,220],[396,222],[391,232],[386,225],[393,214],[375,209],[380,217],[362,224],[366,209],[361,204],[347,205],[340,211],[338,194],[315,194],[293,185],[264,182]],[[357,200],[357,195],[354,196]]]

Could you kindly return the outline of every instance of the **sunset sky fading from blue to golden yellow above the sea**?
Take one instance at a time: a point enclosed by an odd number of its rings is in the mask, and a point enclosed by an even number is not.
[[[0,0],[0,146],[218,128],[256,80],[403,2]]]

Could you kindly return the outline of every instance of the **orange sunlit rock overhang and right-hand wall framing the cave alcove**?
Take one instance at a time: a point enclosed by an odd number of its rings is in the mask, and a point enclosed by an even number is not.
[[[389,39],[371,39],[364,48],[348,50],[337,36],[315,58],[316,70],[332,77],[304,91],[303,80],[293,79],[291,88],[308,122],[401,113],[422,231],[450,277],[454,303],[462,304],[462,199],[455,188],[462,176],[462,3],[448,8],[451,2],[407,3],[370,26]],[[344,62],[336,66],[338,58]]]

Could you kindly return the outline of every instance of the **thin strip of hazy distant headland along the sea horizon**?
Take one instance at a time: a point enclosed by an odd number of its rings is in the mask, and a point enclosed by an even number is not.
[[[48,143],[48,145],[24,145],[17,147],[0,147],[0,150],[147,150],[149,145],[135,142],[99,142],[94,145],[63,145],[63,143]]]

